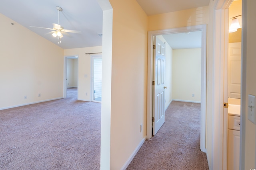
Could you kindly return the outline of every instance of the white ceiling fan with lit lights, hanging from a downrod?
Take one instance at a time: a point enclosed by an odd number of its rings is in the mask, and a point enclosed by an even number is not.
[[[62,26],[60,26],[59,25],[59,19],[60,19],[60,11],[62,11],[62,8],[60,8],[59,6],[56,6],[56,9],[58,10],[58,24],[57,23],[52,23],[53,28],[36,27],[36,26],[30,26],[30,27],[44,28],[44,29],[53,30],[49,33],[51,33],[52,36],[57,37],[58,43],[61,43],[61,38],[63,37],[63,34],[68,35],[68,33],[81,33],[80,31],[64,29]]]

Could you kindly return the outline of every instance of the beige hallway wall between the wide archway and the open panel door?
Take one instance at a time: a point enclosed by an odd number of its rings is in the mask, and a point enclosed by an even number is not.
[[[136,0],[110,0],[110,4],[113,7],[110,169],[120,170],[146,136],[148,22]]]

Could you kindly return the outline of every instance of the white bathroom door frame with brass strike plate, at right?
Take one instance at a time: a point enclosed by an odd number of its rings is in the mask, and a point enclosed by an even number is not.
[[[213,44],[213,109],[212,109],[212,169],[227,169],[228,148],[228,27],[229,6],[233,0],[218,0],[214,6]],[[242,69],[242,68],[241,68]],[[241,74],[242,79],[242,74]],[[240,131],[242,130],[242,127]]]

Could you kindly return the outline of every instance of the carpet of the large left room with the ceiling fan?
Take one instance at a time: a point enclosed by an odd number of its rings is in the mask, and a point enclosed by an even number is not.
[[[0,110],[0,170],[99,170],[101,104],[76,99]]]

